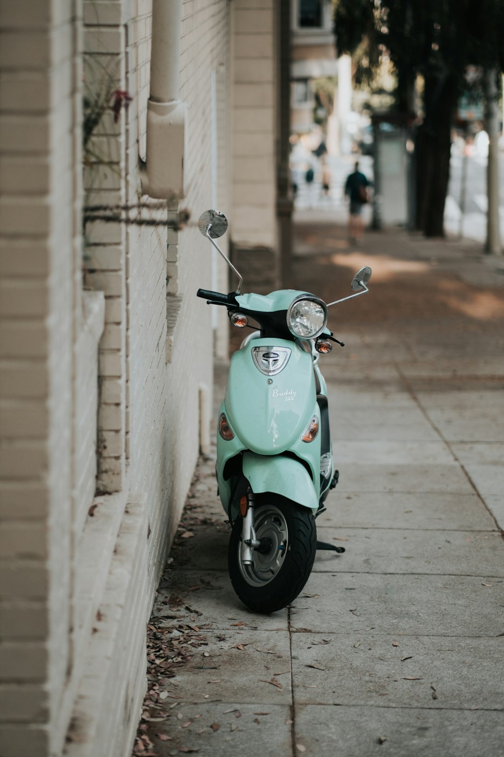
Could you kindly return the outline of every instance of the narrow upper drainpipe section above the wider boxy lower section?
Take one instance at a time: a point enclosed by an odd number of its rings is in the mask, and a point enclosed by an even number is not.
[[[150,100],[178,100],[182,0],[153,0],[150,51]]]

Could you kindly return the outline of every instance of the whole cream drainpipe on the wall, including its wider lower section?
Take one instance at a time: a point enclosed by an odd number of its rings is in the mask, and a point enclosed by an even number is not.
[[[153,0],[147,157],[142,192],[159,200],[184,197],[186,106],[179,100],[182,0]]]

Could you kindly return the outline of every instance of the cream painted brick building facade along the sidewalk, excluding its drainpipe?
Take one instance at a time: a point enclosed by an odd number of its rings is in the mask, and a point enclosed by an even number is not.
[[[186,192],[155,208],[139,170],[152,0],[0,3],[3,757],[131,752],[146,623],[227,351],[224,309],[195,296],[228,288],[199,214],[223,210],[235,264],[266,253],[277,276],[288,3],[180,2]]]

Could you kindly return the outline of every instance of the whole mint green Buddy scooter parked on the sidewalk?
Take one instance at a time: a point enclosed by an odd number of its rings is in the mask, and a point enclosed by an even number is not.
[[[237,291],[199,289],[208,304],[227,307],[233,326],[258,323],[233,354],[218,418],[218,491],[232,527],[228,566],[240,600],[274,612],[305,586],[318,549],[315,518],[338,481],[332,462],[326,382],[319,354],[338,342],[327,308],[367,290],[371,269],[354,276],[357,294],[326,305],[305,291],[241,294],[242,277],[215,239],[227,230],[217,210],[199,218],[200,232],[240,279]],[[342,344],[342,342],[338,342]]]

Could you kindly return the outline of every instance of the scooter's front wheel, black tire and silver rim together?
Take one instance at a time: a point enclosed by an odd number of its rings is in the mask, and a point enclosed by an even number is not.
[[[233,525],[227,564],[233,589],[255,612],[275,612],[289,605],[305,586],[317,552],[317,528],[307,507],[274,494],[258,495],[256,537],[269,538],[265,553],[254,550],[254,564],[240,559],[241,516]],[[279,556],[280,555],[280,556]]]

